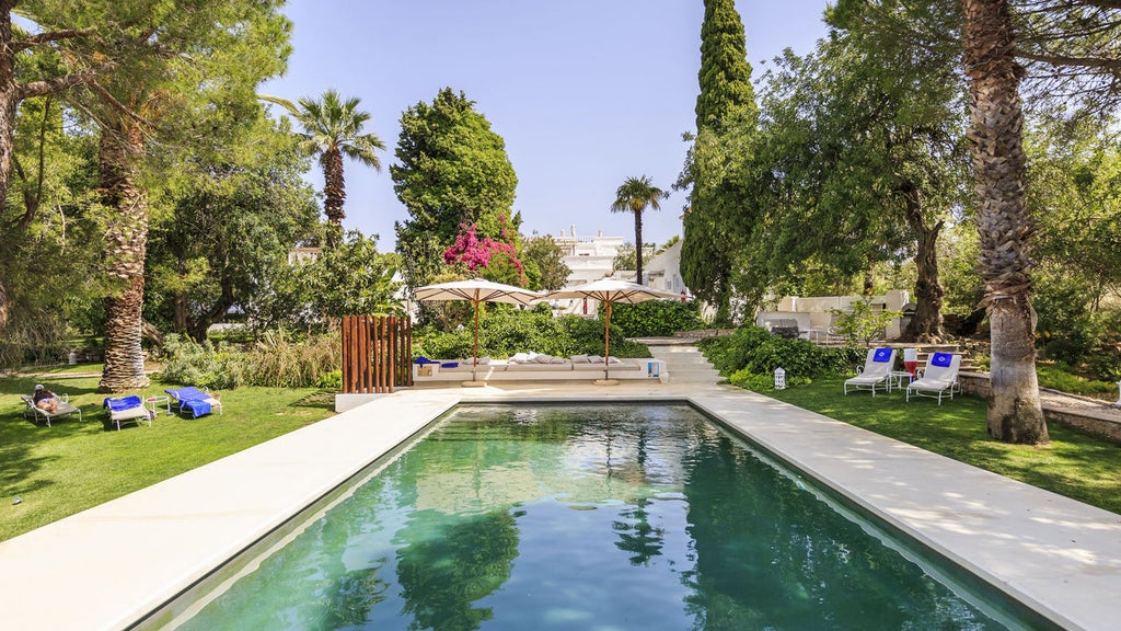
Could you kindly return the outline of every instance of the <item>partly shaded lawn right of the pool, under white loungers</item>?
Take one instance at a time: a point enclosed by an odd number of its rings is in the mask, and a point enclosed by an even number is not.
[[[1050,445],[1006,445],[989,438],[985,403],[974,396],[911,399],[902,391],[843,394],[843,378],[765,394],[799,408],[921,447],[1032,486],[1121,513],[1121,446],[1058,423]]]

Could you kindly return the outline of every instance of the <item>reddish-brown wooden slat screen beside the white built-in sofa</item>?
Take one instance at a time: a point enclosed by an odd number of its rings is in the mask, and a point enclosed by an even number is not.
[[[413,324],[396,316],[343,317],[343,393],[413,385]]]

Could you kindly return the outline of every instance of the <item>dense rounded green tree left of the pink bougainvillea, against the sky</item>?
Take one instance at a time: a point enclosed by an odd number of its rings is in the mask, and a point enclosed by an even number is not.
[[[502,137],[491,130],[475,102],[445,88],[432,103],[419,102],[401,115],[401,134],[389,167],[393,191],[409,212],[396,223],[398,252],[413,286],[428,282],[444,248],[462,226],[480,238],[517,232],[521,217],[512,212],[518,177]]]

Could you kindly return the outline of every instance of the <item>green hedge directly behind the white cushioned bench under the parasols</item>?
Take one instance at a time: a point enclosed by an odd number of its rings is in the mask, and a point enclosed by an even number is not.
[[[472,324],[452,332],[435,329],[413,331],[413,355],[438,359],[465,359],[472,354]],[[576,316],[554,318],[548,308],[532,311],[489,308],[479,318],[479,356],[502,359],[516,353],[545,353],[557,357],[603,355],[603,321]],[[611,326],[611,355],[650,357],[646,345],[628,341]]]

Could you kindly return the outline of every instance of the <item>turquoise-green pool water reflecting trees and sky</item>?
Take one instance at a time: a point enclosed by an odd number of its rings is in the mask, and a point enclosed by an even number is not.
[[[180,628],[1028,629],[685,405],[470,406]]]

